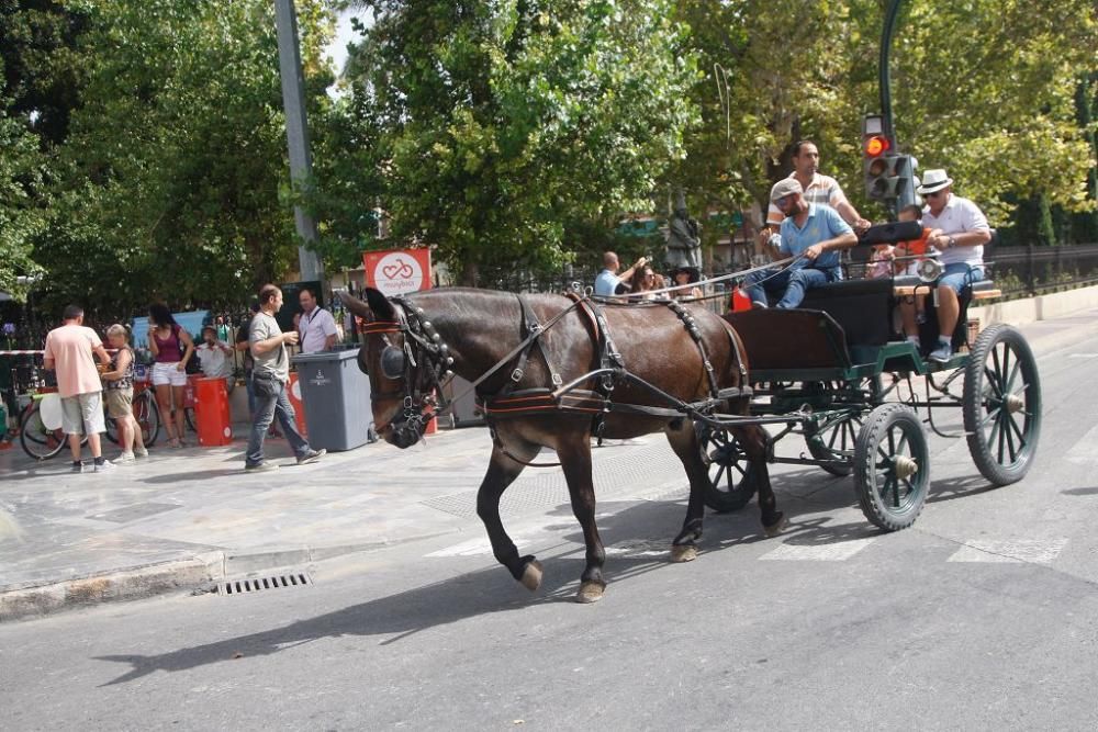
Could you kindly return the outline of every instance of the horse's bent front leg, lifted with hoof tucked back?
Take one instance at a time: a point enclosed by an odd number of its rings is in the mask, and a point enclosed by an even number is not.
[[[507,446],[507,451],[519,460],[529,462],[537,455],[538,448],[523,443],[522,447]],[[515,462],[500,449],[492,449],[492,461],[489,463],[484,480],[477,491],[477,515],[480,516],[492,542],[492,553],[500,564],[507,567],[513,576],[528,590],[534,592],[541,586],[541,563],[534,555],[519,556],[515,542],[507,536],[500,518],[500,497],[507,486],[515,482],[526,465]]]

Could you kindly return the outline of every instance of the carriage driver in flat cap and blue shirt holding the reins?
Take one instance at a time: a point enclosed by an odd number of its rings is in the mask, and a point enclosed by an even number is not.
[[[805,201],[804,189],[794,178],[780,180],[770,200],[785,215],[778,251],[799,259],[783,270],[752,272],[744,290],[752,307],[766,307],[768,293],[781,297],[776,307],[797,307],[813,288],[842,279],[839,251],[858,244],[858,237],[834,209]]]

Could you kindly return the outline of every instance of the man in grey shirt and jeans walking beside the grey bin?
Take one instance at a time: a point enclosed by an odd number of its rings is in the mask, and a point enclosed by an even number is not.
[[[274,314],[282,308],[282,291],[273,284],[266,284],[259,291],[259,312],[251,318],[249,328],[251,358],[251,386],[256,395],[256,410],[251,423],[251,436],[244,466],[249,471],[265,471],[278,468],[264,458],[264,440],[267,429],[277,418],[282,425],[282,433],[298,458],[298,464],[315,462],[326,450],[313,450],[298,431],[296,414],[287,396],[290,381],[290,356],[287,345],[298,342],[298,333],[282,333]]]

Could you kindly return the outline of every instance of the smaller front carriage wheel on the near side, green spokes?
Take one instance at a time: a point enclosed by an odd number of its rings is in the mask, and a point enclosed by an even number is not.
[[[854,487],[874,526],[898,531],[915,523],[927,503],[930,452],[912,409],[884,404],[866,417],[854,446]]]

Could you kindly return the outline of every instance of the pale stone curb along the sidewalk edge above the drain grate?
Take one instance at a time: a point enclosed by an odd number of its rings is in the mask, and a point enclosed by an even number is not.
[[[216,583],[228,578],[244,578],[257,572],[378,551],[447,533],[452,531],[435,531],[401,539],[382,539],[337,547],[303,547],[255,553],[215,551],[188,560],[160,562],[33,587],[0,590],[0,622],[42,618],[102,603],[212,592]]]

